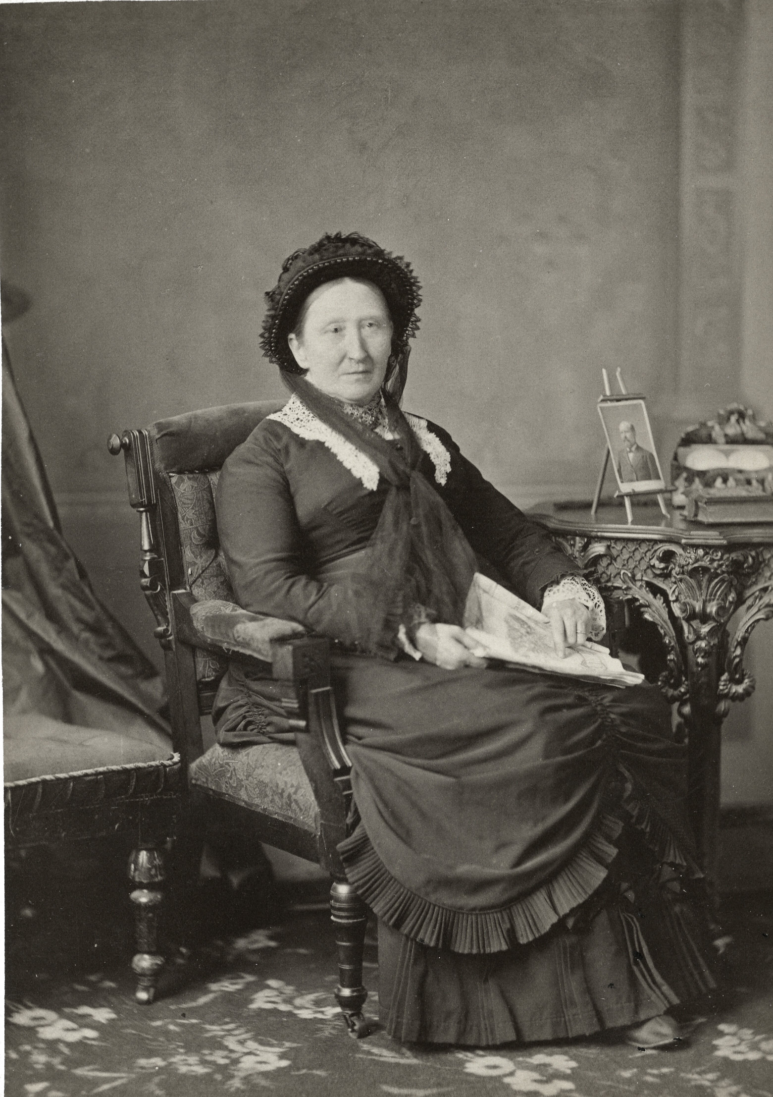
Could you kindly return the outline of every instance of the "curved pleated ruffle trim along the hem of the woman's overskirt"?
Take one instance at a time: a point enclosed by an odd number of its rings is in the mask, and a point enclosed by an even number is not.
[[[536,940],[589,898],[617,856],[614,841],[622,829],[619,819],[600,816],[595,828],[557,875],[498,911],[456,911],[409,891],[389,874],[362,823],[338,849],[349,882],[393,929],[429,948],[480,954],[504,952]]]

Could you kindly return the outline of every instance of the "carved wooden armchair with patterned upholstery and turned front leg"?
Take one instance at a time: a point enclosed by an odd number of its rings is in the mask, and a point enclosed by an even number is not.
[[[337,846],[346,836],[351,762],[330,688],[329,641],[299,625],[248,613],[234,601],[217,535],[214,491],[226,457],[281,404],[207,408],[125,430],[129,504],[140,518],[140,586],[163,653],[174,749],[182,762],[187,832],[232,827],[309,861],[331,878],[338,946],[336,998],[349,1032],[367,1031],[362,959],[367,908],[346,882]],[[229,659],[278,683],[295,747],[266,744],[204,751]],[[190,839],[190,871],[200,849]]]

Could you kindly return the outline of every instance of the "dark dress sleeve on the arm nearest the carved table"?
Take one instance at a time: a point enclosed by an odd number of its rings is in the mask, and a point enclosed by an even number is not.
[[[580,568],[555,546],[547,530],[531,521],[485,479],[451,436],[428,423],[451,453],[451,471],[439,488],[475,552],[489,561],[515,593],[539,609],[543,592]]]

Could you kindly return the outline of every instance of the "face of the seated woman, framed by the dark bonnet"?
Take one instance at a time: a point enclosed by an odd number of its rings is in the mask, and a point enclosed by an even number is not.
[[[367,404],[382,387],[391,351],[391,319],[380,290],[339,279],[314,290],[289,349],[316,388],[350,404]]]

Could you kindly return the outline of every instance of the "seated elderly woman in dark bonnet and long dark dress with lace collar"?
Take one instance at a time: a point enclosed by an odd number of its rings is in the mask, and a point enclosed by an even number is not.
[[[400,410],[410,265],[323,236],[266,297],[263,349],[292,395],[225,463],[218,527],[241,606],[334,641],[355,804],[340,852],[378,917],[387,1032],[672,1043],[667,1010],[713,982],[668,705],[475,654],[476,570],[542,609],[559,654],[604,633],[603,603],[442,428]],[[232,667],[219,740],[281,737],[277,714]]]

